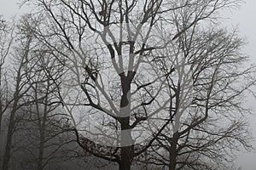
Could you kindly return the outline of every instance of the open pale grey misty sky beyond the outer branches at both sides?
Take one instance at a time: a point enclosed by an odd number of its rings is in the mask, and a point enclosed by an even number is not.
[[[18,0],[0,0],[0,14],[6,19],[11,19],[13,16],[19,16],[24,12],[28,12],[28,8],[21,8],[17,5]],[[247,38],[247,47],[244,48],[244,53],[251,57],[252,62],[256,63],[256,0],[244,0],[241,8],[236,11],[227,12],[226,17],[230,18],[228,26],[238,26],[241,37]],[[253,108],[253,116],[250,117],[253,137],[256,139],[256,99],[248,99],[247,102]],[[256,141],[253,143],[256,148]],[[256,168],[256,151],[253,153],[241,153],[241,156],[236,161],[238,166],[242,166],[243,170],[255,170]]]

